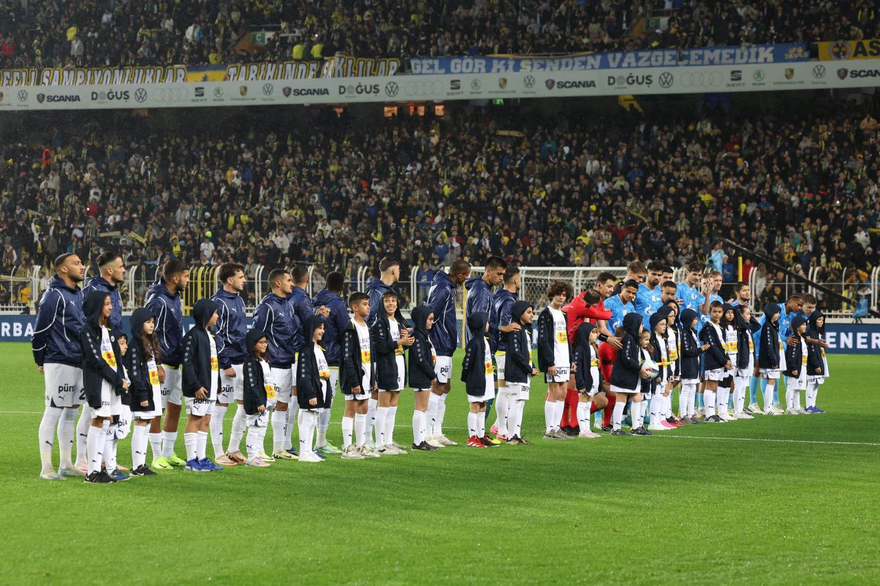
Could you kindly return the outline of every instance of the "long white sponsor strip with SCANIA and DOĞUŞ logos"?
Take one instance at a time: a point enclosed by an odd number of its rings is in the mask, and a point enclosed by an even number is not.
[[[880,84],[880,59],[839,63],[771,63],[715,67],[557,73],[347,77],[152,85],[0,87],[9,110],[290,106],[366,102],[590,98],[598,96],[847,89]]]

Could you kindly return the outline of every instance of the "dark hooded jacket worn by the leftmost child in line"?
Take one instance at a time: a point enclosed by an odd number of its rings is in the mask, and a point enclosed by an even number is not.
[[[110,343],[113,346],[114,361],[116,368],[107,363],[104,356],[101,355],[101,311],[104,309],[104,300],[109,293],[104,291],[92,291],[85,297],[83,302],[83,311],[85,313],[85,324],[79,332],[79,341],[83,347],[83,386],[85,389],[85,399],[89,402],[89,407],[99,409],[101,407],[101,386],[104,381],[113,386],[117,395],[124,395],[127,392],[122,388],[125,381],[125,370],[122,369],[122,353],[119,349],[119,342],[116,336],[110,333]],[[109,328],[108,328],[109,329]]]

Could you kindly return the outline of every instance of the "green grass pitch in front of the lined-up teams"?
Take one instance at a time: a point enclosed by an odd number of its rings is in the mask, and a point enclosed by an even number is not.
[[[42,378],[25,344],[0,351],[0,583],[880,579],[875,356],[831,357],[822,415],[543,442],[536,382],[532,446],[92,486],[37,479]],[[445,421],[461,443],[463,391]],[[400,443],[411,409],[403,393]],[[334,443],[340,419],[337,402]]]

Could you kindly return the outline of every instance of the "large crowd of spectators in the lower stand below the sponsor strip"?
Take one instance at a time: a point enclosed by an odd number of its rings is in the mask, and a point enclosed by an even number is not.
[[[880,125],[858,106],[784,120],[495,112],[290,130],[254,114],[260,129],[240,134],[86,126],[4,144],[3,273],[114,248],[135,265],[234,258],[252,276],[304,262],[353,279],[386,254],[408,275],[491,253],[533,267],[702,260],[735,280],[725,238],[820,281],[863,281],[880,261]]]

